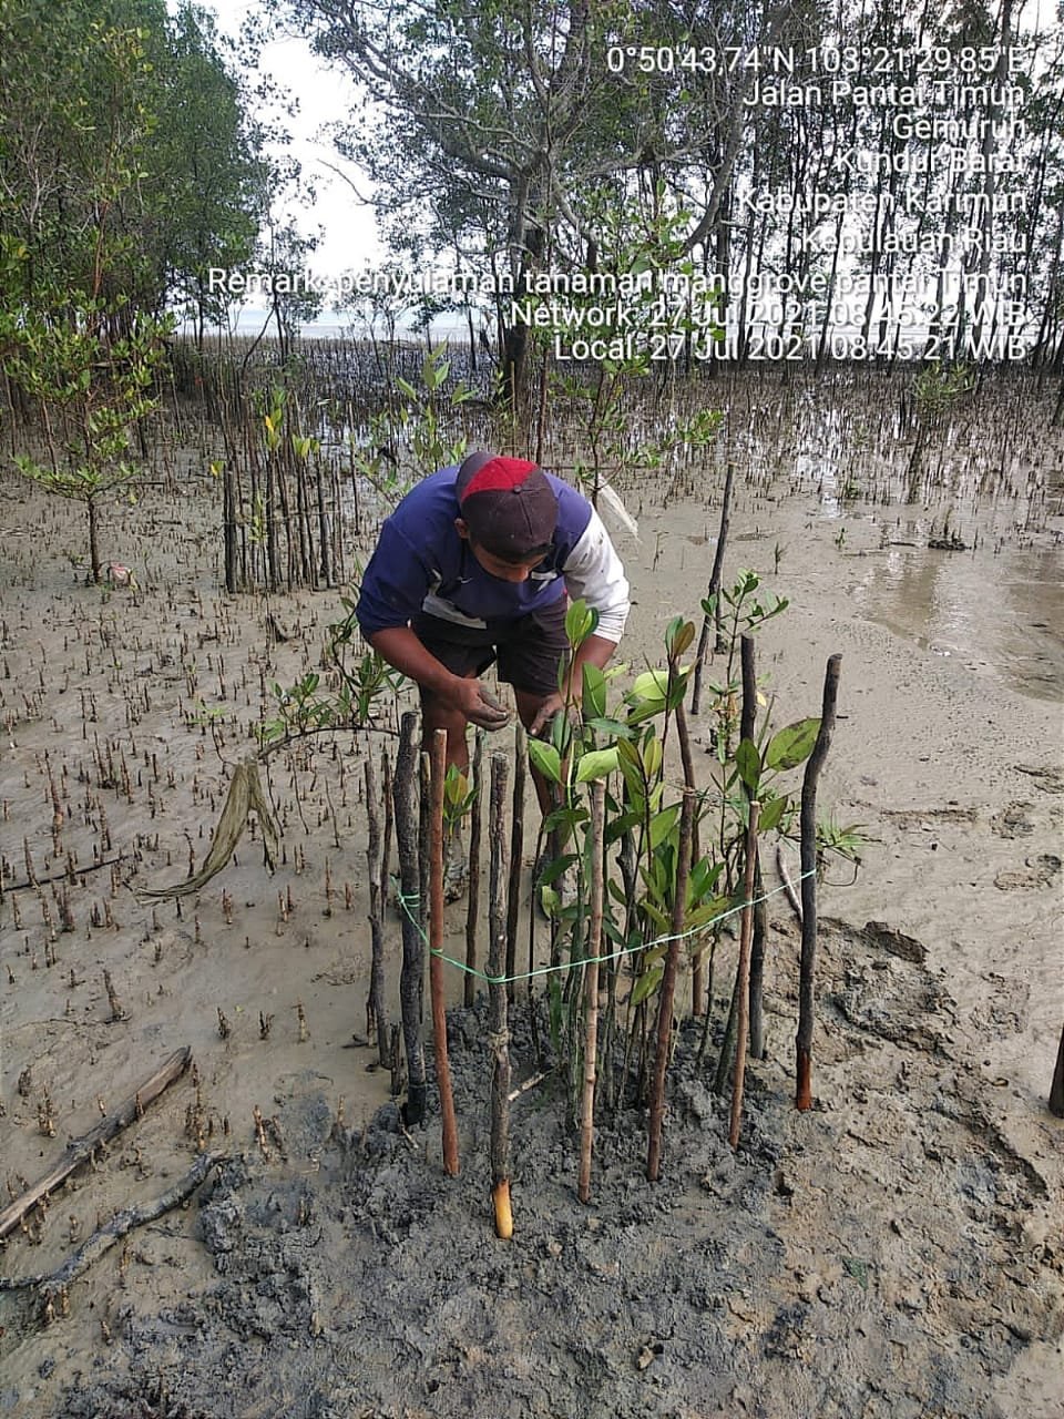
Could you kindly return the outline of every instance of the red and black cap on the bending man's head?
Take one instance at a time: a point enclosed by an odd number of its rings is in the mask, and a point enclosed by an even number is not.
[[[472,539],[509,562],[546,552],[558,526],[558,498],[542,468],[478,450],[458,468],[458,508]]]

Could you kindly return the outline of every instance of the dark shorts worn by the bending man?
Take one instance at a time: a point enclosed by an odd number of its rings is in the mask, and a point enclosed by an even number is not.
[[[558,667],[569,648],[565,614],[569,599],[484,630],[458,626],[440,616],[416,616],[410,623],[426,650],[455,675],[481,675],[498,661],[499,680],[531,695],[558,690]]]

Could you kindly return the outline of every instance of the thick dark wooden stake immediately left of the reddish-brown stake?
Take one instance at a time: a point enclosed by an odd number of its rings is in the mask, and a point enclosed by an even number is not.
[[[403,1017],[406,1047],[407,1098],[404,1121],[413,1128],[424,1121],[426,1077],[424,1039],[421,1036],[421,995],[424,992],[424,944],[421,941],[417,891],[420,883],[417,863],[417,809],[414,782],[417,778],[417,715],[409,710],[399,729],[399,753],[392,796],[396,810],[396,843],[399,846],[399,890],[401,901],[403,968],[399,975],[399,1003]],[[393,1061],[394,1064],[394,1061]]]

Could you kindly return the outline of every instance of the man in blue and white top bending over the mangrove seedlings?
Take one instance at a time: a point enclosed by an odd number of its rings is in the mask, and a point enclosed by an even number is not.
[[[447,763],[468,773],[467,725],[501,729],[508,718],[478,678],[491,664],[529,734],[562,708],[569,596],[599,613],[576,653],[579,695],[582,666],[604,667],[624,631],[624,568],[575,488],[533,463],[478,451],[424,478],[384,521],[356,616],[370,646],[417,681],[426,744],[445,729]],[[548,786],[535,780],[546,813]]]

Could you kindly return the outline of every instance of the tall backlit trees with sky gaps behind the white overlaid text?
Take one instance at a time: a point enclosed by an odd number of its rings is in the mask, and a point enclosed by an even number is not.
[[[1061,370],[1064,31],[1053,18],[1034,33],[1023,9],[278,7],[372,101],[338,145],[372,175],[410,264],[521,285],[548,268],[658,261],[722,274],[739,359],[760,324],[817,336],[821,353],[844,329],[887,358],[977,359],[1013,339]],[[946,162],[946,149],[963,158]],[[797,295],[756,309],[753,274],[786,275]],[[905,289],[919,301],[908,324]],[[506,299],[497,318],[519,385],[529,331]]]

